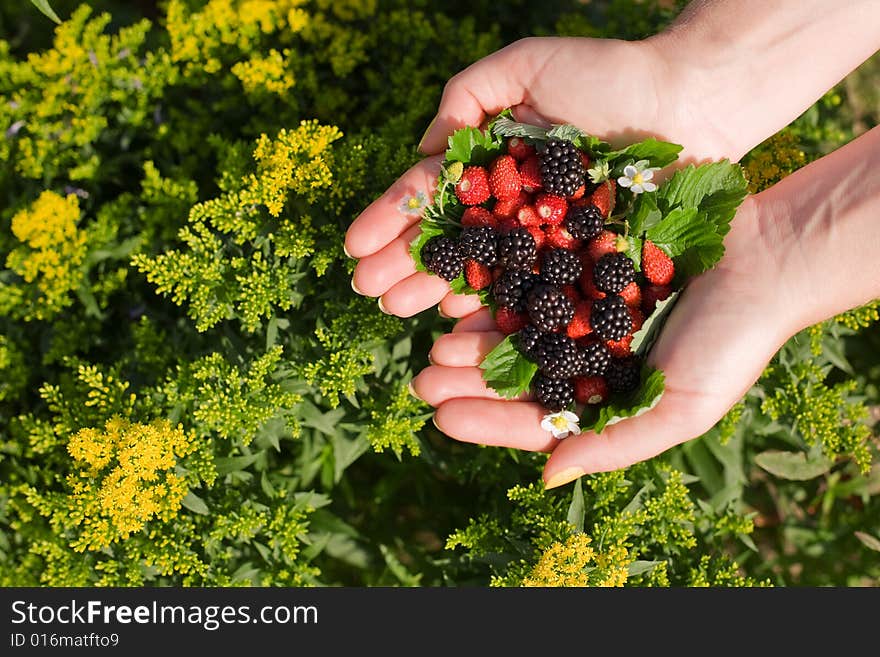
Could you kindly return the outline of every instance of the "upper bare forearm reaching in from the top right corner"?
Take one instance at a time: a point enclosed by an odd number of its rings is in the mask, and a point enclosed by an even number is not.
[[[880,0],[696,0],[650,42],[739,157],[790,123],[880,48]]]

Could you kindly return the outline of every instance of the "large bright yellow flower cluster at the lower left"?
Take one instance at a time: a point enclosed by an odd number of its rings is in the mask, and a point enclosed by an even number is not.
[[[187,486],[174,468],[194,449],[193,436],[166,420],[135,424],[114,417],[103,429],[77,432],[67,447],[81,468],[68,477],[68,522],[81,533],[71,547],[101,550],[153,518],[175,517]]]

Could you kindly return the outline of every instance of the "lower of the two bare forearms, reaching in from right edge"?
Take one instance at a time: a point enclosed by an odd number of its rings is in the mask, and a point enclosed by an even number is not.
[[[792,330],[880,298],[880,127],[755,197]],[[789,304],[791,307],[791,304]]]

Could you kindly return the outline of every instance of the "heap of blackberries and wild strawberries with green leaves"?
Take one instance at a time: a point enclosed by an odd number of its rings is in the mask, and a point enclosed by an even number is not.
[[[508,338],[481,365],[488,384],[507,397],[531,391],[551,420],[582,405],[597,431],[653,407],[662,373],[644,356],[685,277],[723,253],[745,196],[740,169],[689,167],[661,188],[654,172],[680,146],[612,150],[509,112],[449,146],[412,251],[420,268],[493,308]]]

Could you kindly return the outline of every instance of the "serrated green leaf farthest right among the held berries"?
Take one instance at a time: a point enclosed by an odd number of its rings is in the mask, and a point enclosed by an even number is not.
[[[681,169],[661,185],[657,196],[661,208],[699,208],[724,236],[747,192],[748,182],[742,168],[722,160]]]

